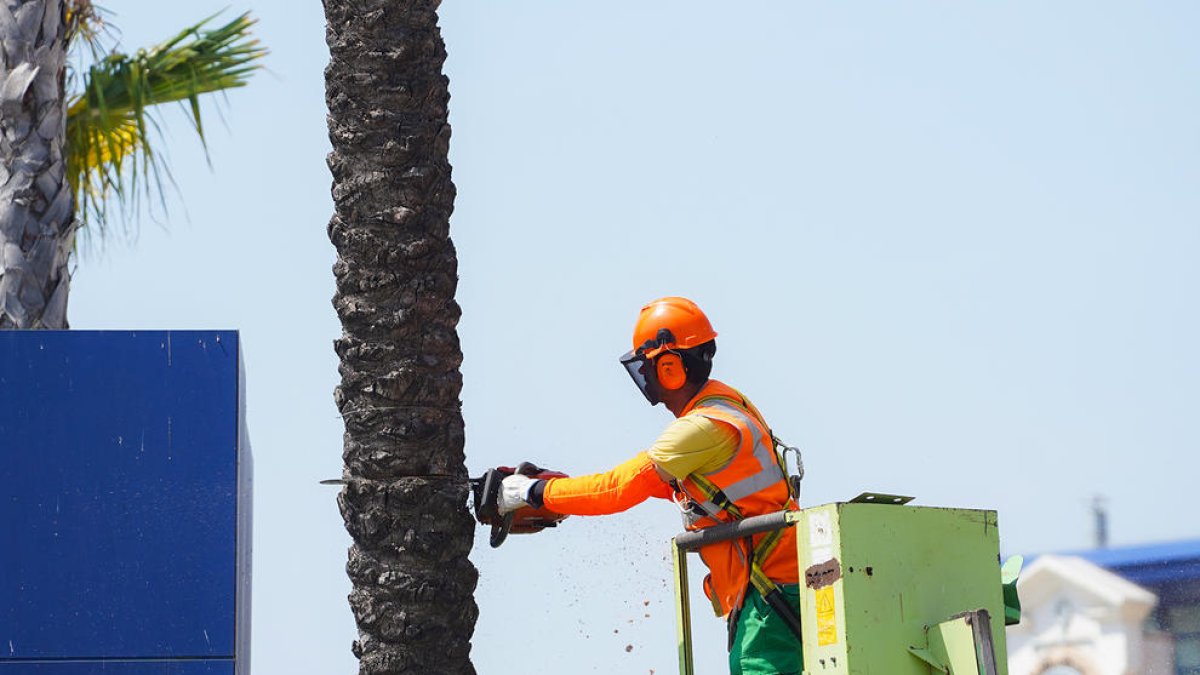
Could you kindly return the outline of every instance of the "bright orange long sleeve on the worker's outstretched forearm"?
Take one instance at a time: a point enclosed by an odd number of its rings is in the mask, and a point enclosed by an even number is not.
[[[649,497],[671,497],[671,486],[659,477],[646,453],[612,471],[571,478],[551,478],[530,490],[530,503],[540,500],[554,513],[606,515],[632,508]]]

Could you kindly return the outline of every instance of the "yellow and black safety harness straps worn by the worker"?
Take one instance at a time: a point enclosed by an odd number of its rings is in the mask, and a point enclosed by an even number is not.
[[[770,432],[770,428],[767,426],[766,420],[763,420],[762,414],[758,412],[758,410],[754,407],[754,404],[746,401],[744,398],[738,400],[724,395],[704,396],[703,399],[696,402],[695,407],[700,407],[704,401],[714,399],[728,401],[734,406],[749,412],[762,425],[762,428],[767,430],[767,434],[770,436],[772,446],[774,448],[778,448],[782,444],[780,443],[779,438],[776,438],[775,435]],[[793,498],[798,497],[798,495],[793,494],[794,485],[792,480],[788,479],[787,471],[785,468],[786,466],[785,458],[780,456],[778,449],[772,454],[774,455],[775,465],[780,471],[781,479],[785,480],[788,485],[788,494]],[[700,489],[701,496],[703,497],[703,502],[715,504],[718,508],[728,514],[731,520],[742,520],[744,518],[742,509],[738,508],[738,506],[733,503],[733,501],[730,500],[730,497],[707,477],[701,476],[700,473],[692,473],[688,478],[696,485],[696,488]],[[691,497],[691,495],[689,495],[689,497]],[[695,497],[691,498],[697,507],[701,503],[703,503],[701,501],[697,501]],[[714,518],[715,514],[706,514],[706,515],[713,518],[713,520],[716,520]],[[794,609],[788,607],[787,599],[784,597],[784,592],[780,591],[779,585],[775,584],[775,581],[773,581],[769,577],[767,577],[767,574],[762,571],[762,566],[758,565],[758,561],[767,560],[767,557],[775,550],[775,548],[779,545],[780,539],[782,538],[784,538],[782,530],[773,530],[770,532],[767,532],[766,534],[763,534],[761,539],[758,539],[757,544],[754,543],[752,537],[743,538],[742,542],[745,544],[745,549],[750,551],[749,560],[746,560],[746,554],[743,552],[743,546],[734,546],[734,548],[738,551],[738,555],[742,556],[743,561],[748,563],[746,567],[750,569],[749,584],[754,585],[754,587],[758,591],[758,595],[761,595],[763,599],[767,601],[767,604],[770,605],[770,608],[775,610],[776,614],[779,614],[780,619],[784,620],[784,623],[787,625],[788,629],[791,629],[791,632],[796,635],[796,639],[799,640],[802,639],[799,617],[796,615]],[[719,599],[715,596],[712,597],[710,599],[713,602],[713,610],[720,614],[721,605]],[[737,607],[734,607],[733,610],[730,613],[730,620],[728,620],[730,649],[732,649],[733,646],[733,638],[737,632],[738,615],[742,613],[744,599],[745,599],[745,593],[743,591],[743,596],[738,598]]]

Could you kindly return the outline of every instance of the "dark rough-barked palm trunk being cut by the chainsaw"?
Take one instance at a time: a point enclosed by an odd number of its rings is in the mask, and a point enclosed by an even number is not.
[[[353,651],[361,675],[474,674],[438,1],[324,5]]]

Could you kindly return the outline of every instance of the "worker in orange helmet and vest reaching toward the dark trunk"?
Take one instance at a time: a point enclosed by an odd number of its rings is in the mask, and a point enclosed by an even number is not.
[[[649,497],[673,500],[688,530],[796,509],[758,410],[737,389],[710,380],[716,333],[686,298],[642,307],[634,348],[620,357],[650,405],[676,419],[646,452],[605,473],[504,479],[502,513],[524,506],[568,515],[604,515]],[[709,569],[704,593],[727,621],[732,675],[803,670],[799,585],[792,527],[700,549]]]

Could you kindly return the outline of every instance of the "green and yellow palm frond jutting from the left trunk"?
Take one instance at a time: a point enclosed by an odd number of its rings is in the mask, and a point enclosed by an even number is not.
[[[92,65],[84,89],[67,106],[67,175],[84,222],[104,229],[108,203],[137,209],[139,196],[166,204],[170,178],[157,148],[156,106],[182,102],[200,139],[200,96],[244,86],[266,50],[251,37],[254,20],[241,14],[205,29],[210,17],[136,54],[113,53]]]

